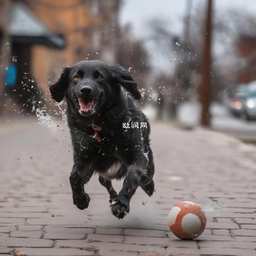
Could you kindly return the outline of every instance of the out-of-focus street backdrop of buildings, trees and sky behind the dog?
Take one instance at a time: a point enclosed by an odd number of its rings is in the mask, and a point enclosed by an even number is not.
[[[150,119],[256,143],[254,0],[0,0],[0,118],[65,117],[48,85],[100,59],[137,75]]]

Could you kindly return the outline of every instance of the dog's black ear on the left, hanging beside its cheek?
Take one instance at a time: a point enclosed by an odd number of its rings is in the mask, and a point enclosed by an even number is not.
[[[70,67],[64,67],[58,79],[58,82],[54,84],[50,84],[49,86],[52,99],[54,99],[57,102],[62,101],[65,95],[65,91],[69,86],[69,72],[70,72]]]

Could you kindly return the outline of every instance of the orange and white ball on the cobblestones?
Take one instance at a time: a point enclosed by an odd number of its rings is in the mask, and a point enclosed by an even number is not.
[[[168,224],[178,238],[194,239],[203,233],[206,216],[200,204],[182,201],[170,210]]]

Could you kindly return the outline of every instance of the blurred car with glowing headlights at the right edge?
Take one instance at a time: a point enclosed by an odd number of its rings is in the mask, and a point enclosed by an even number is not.
[[[256,81],[238,86],[234,97],[229,100],[229,109],[235,116],[256,119]]]

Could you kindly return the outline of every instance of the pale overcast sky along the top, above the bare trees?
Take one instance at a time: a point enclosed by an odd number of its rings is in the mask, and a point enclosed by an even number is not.
[[[172,32],[182,31],[186,2],[188,0],[123,0],[120,13],[120,23],[131,23],[136,36],[147,34],[146,23],[152,18],[165,18]],[[198,5],[205,5],[206,0],[192,0],[192,11]],[[256,0],[213,0],[214,11],[229,8],[248,11],[255,14]]]

